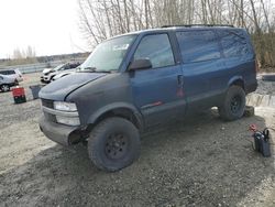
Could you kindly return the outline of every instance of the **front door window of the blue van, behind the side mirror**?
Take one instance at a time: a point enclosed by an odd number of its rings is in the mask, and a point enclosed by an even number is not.
[[[175,65],[170,42],[167,34],[144,36],[139,44],[134,59],[147,58],[153,68]]]

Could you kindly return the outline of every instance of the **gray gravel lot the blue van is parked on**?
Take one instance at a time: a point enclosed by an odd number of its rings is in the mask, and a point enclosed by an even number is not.
[[[25,78],[28,88],[38,75]],[[85,146],[47,140],[40,100],[29,89],[28,99],[13,105],[10,92],[0,94],[0,206],[275,206],[275,156],[255,153],[248,131],[251,123],[275,128],[275,109],[234,122],[209,110],[151,130],[138,162],[105,173]]]

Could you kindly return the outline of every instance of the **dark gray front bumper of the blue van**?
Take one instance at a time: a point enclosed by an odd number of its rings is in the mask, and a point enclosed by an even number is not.
[[[80,140],[78,127],[64,126],[45,120],[44,117],[40,119],[41,131],[54,142],[62,145],[72,145],[76,140]]]

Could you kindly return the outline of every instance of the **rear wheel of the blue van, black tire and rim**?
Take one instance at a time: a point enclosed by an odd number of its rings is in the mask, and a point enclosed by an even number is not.
[[[220,117],[226,121],[240,119],[245,109],[245,92],[240,86],[231,86],[222,106],[218,107]]]

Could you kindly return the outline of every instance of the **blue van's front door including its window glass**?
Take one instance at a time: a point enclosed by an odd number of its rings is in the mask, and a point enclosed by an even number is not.
[[[133,55],[133,59],[148,58],[152,63],[151,69],[131,72],[134,103],[147,127],[185,112],[183,73],[173,51],[169,35],[158,33],[143,36]]]

